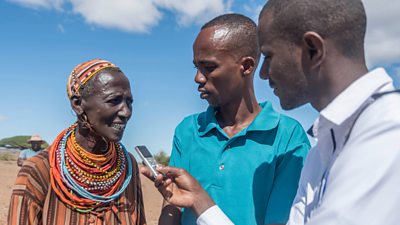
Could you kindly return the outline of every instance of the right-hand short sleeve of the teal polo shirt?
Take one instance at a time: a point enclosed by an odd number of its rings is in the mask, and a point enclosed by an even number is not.
[[[286,151],[278,162],[274,184],[270,193],[265,224],[286,224],[290,208],[297,192],[297,186],[310,144],[303,128],[297,124],[293,129]]]

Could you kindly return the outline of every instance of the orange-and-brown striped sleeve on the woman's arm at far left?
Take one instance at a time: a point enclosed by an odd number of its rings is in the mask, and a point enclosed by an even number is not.
[[[48,190],[48,169],[48,164],[39,157],[25,161],[11,194],[7,217],[9,225],[42,224],[43,204]]]

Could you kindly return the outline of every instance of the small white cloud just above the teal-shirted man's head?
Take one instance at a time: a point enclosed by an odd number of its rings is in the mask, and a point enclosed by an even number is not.
[[[177,12],[178,23],[202,24],[215,16],[228,12],[232,0],[156,0],[157,5]]]

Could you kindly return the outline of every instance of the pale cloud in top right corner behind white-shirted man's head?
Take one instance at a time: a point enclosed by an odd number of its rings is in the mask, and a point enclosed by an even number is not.
[[[366,55],[370,66],[399,63],[400,1],[364,0],[367,12]]]

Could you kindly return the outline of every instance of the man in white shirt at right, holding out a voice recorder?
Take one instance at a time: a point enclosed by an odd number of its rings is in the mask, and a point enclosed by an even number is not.
[[[282,108],[320,112],[289,225],[399,224],[400,94],[383,69],[368,72],[365,29],[360,0],[269,0],[260,14],[261,78]],[[160,192],[198,224],[231,224],[185,171],[160,171]]]

